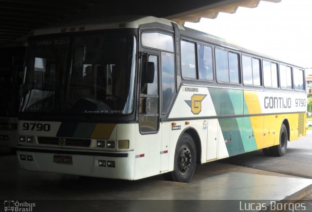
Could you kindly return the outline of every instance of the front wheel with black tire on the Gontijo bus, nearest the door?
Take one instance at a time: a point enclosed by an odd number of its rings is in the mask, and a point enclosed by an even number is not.
[[[190,182],[195,172],[196,147],[191,135],[184,133],[176,145],[174,171],[165,173],[166,180]]]

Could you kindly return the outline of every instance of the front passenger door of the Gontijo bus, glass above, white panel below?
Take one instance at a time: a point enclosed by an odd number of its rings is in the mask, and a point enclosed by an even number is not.
[[[161,166],[160,51],[142,49],[140,59],[135,179],[159,174]]]

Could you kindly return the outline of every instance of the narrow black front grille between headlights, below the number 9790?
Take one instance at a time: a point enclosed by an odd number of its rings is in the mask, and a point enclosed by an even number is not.
[[[89,147],[91,140],[79,138],[38,137],[38,143],[58,146]]]

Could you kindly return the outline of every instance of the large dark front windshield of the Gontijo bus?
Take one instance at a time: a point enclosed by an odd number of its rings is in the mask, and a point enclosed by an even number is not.
[[[98,33],[29,42],[21,112],[130,114],[136,38]]]

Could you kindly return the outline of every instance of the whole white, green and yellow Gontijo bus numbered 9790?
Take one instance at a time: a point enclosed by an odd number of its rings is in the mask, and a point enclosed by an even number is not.
[[[196,163],[281,156],[306,134],[303,68],[166,19],[40,29],[27,52],[22,169],[189,182]]]

